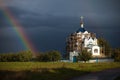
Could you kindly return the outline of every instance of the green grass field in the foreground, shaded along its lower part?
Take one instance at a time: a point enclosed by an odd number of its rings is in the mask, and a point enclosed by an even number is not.
[[[69,80],[120,63],[0,62],[0,80]]]

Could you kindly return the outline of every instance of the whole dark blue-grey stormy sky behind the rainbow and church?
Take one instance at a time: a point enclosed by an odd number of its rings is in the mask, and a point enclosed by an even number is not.
[[[11,11],[38,51],[65,52],[66,37],[80,27],[80,16],[84,16],[88,32],[104,37],[112,47],[120,47],[119,0],[0,0],[0,3]],[[1,7],[0,53],[24,50]]]

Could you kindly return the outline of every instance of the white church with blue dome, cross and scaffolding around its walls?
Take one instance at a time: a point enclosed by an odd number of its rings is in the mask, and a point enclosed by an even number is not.
[[[81,17],[80,28],[66,39],[66,52],[69,55],[69,60],[72,62],[76,61],[76,57],[83,49],[90,52],[92,57],[101,56],[96,34],[88,32],[84,28],[83,17]]]

